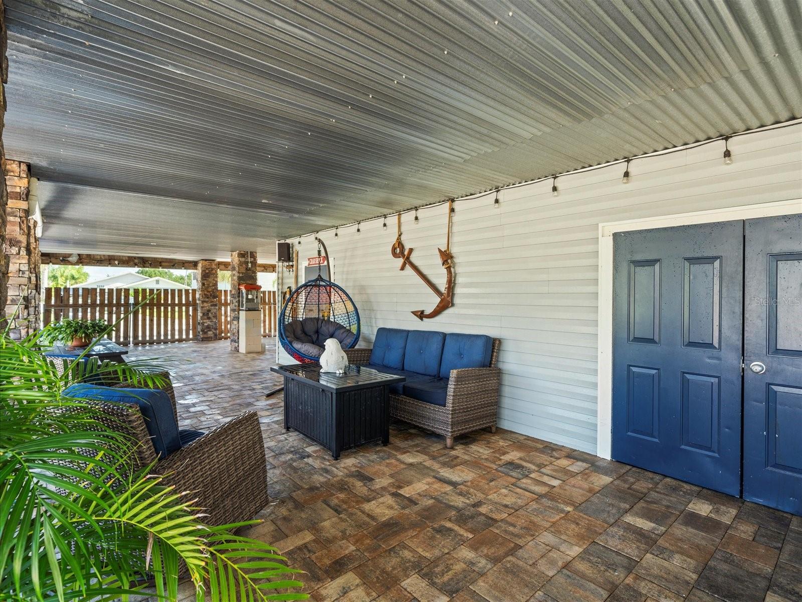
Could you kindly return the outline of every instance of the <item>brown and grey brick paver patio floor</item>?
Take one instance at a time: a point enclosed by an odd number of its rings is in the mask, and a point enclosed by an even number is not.
[[[249,535],[306,571],[314,600],[802,600],[802,517],[502,429],[449,450],[399,424],[335,462],[265,399],[273,353],[131,354],[161,355],[178,360],[182,427],[260,414],[271,503]]]

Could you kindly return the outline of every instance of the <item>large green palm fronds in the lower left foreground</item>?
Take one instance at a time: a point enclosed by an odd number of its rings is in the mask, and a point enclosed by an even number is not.
[[[50,336],[0,340],[0,599],[176,600],[181,565],[198,600],[306,599],[302,571],[233,534],[258,521],[205,525],[192,494],[130,470],[134,442],[64,394],[87,371],[158,386],[156,366],[78,358],[62,372],[43,355]]]

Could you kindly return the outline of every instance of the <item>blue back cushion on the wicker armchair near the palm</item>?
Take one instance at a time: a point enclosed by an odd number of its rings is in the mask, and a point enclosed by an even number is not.
[[[145,427],[160,458],[181,449],[176,417],[167,393],[157,388],[111,388],[95,384],[71,384],[64,395],[74,399],[136,404],[145,420]]]

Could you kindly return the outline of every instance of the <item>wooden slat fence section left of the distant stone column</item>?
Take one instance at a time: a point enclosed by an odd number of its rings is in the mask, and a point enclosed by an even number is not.
[[[197,291],[189,289],[47,288],[43,309],[46,326],[63,318],[111,324],[130,314],[109,334],[125,345],[195,340],[197,332]]]

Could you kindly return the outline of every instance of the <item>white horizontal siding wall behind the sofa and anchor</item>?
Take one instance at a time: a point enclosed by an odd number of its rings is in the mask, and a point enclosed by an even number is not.
[[[598,224],[802,197],[802,125],[456,202],[451,250],[454,306],[420,322],[410,311],[435,306],[434,294],[390,254],[395,215],[322,234],[336,282],[362,316],[359,346],[378,327],[476,332],[500,337],[499,425],[595,453],[597,436]],[[425,201],[426,199],[421,199]],[[800,206],[802,211],[802,206]],[[447,205],[403,216],[411,259],[439,287]],[[296,242],[296,241],[290,241]],[[304,238],[301,258],[316,254]],[[280,286],[286,287],[284,278]],[[284,360],[289,360],[286,356]]]

